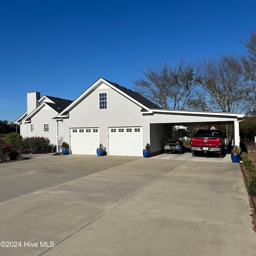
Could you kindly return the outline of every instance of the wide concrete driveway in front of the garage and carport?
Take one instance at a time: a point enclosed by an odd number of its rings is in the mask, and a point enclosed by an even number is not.
[[[256,254],[248,195],[230,155],[48,154],[0,164],[0,175],[1,256]],[[30,191],[12,198],[12,184],[17,195]]]

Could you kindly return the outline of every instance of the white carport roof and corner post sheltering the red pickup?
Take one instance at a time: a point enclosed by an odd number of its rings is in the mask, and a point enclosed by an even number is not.
[[[233,124],[234,145],[239,146],[239,123],[244,120],[242,113],[150,109],[150,124],[199,125]]]

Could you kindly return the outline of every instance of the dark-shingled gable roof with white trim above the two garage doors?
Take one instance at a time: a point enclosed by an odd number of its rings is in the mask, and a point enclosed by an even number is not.
[[[125,88],[123,86],[120,86],[116,83],[110,82],[110,81],[101,77],[96,82],[94,82],[94,84],[92,84],[85,92],[83,92],[80,96],[78,96],[78,98],[76,98],[76,100],[74,100],[66,109],[64,109],[58,115],[58,117],[68,116],[68,112],[72,108],[74,108],[76,105],[78,105],[88,94],[90,94],[90,92],[92,92],[93,90],[95,90],[95,88],[100,86],[100,84],[102,84],[102,82],[107,84],[110,88],[119,92],[120,94],[122,94],[124,97],[128,98],[129,100],[131,100],[135,104],[138,104],[139,106],[141,106],[142,111],[150,111],[150,109],[152,109],[152,108],[162,109],[158,105],[154,104],[150,100],[148,100],[145,97],[143,97],[142,95],[138,94],[137,92],[133,92],[130,89],[127,89],[127,88]]]

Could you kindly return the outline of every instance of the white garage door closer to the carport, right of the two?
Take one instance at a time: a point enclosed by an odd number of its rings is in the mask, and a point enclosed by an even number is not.
[[[109,155],[142,156],[142,127],[110,127]]]

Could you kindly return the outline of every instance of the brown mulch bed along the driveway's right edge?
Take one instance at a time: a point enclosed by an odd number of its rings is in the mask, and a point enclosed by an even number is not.
[[[250,154],[255,154],[255,153],[248,153],[248,158],[252,161],[252,164],[254,164],[256,168],[256,162],[250,157]],[[246,187],[248,186],[248,176],[250,172],[248,172],[248,169],[245,168],[245,166],[240,163],[240,169],[242,172],[242,175],[244,177],[244,182]],[[248,194],[249,196],[249,201],[250,201],[250,207],[251,207],[251,212],[250,216],[252,217],[252,224],[253,224],[253,230],[256,233],[256,197],[252,196],[251,194]]]

